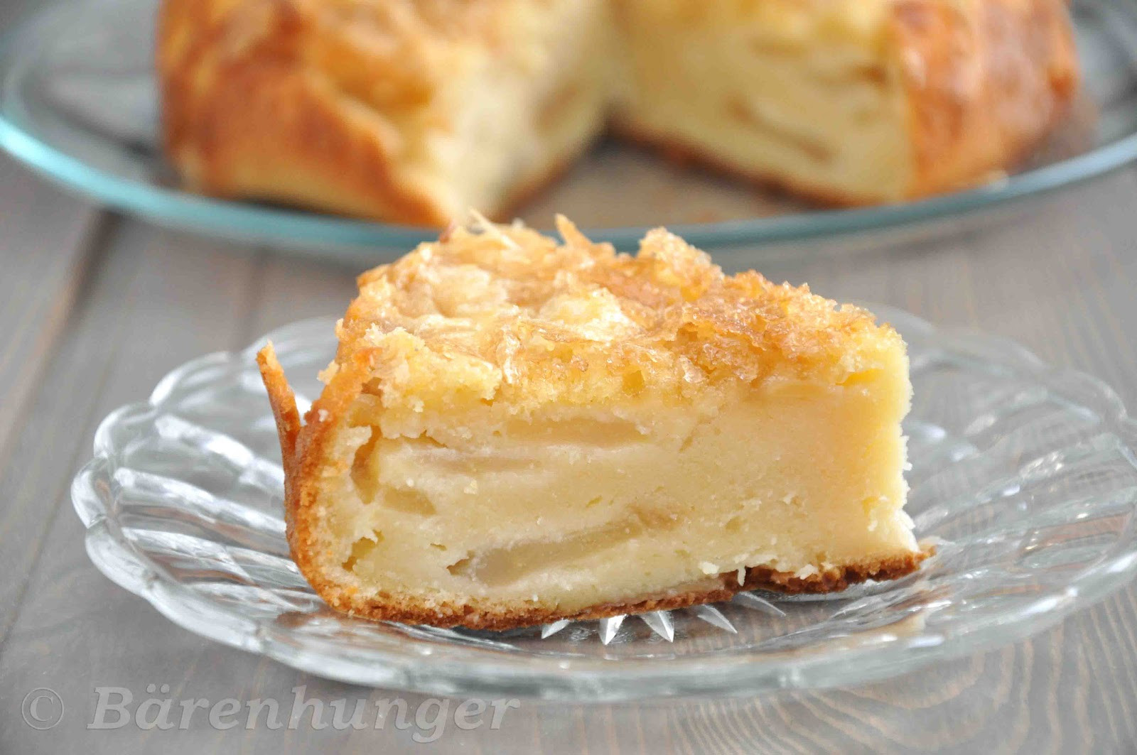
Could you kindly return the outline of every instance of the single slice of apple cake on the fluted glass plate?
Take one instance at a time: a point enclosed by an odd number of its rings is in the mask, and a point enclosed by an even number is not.
[[[913,571],[904,341],[856,307],[488,223],[359,279],[301,423],[288,534],[333,607],[505,629]]]

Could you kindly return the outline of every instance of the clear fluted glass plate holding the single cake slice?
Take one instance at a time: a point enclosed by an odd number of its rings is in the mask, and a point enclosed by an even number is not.
[[[501,633],[333,613],[289,557],[256,347],[196,359],[108,416],[75,479],[75,509],[94,564],[174,623],[315,674],[443,695],[617,700],[854,685],[1038,632],[1127,583],[1137,425],[1118,397],[1007,341],[873,309],[908,342],[907,511],[919,537],[938,540],[894,582]],[[304,406],[333,355],[332,322],[271,338]]]

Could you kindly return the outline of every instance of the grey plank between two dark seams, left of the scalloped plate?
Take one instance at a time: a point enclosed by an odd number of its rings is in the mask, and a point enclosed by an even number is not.
[[[177,362],[232,345],[232,335],[224,339],[238,327],[234,313],[246,299],[251,258],[210,255],[193,242],[160,259],[147,256],[147,244],[167,240],[140,225],[109,234],[114,248],[63,327],[20,416],[19,442],[0,459],[0,500],[16,528],[6,532],[0,551],[0,565],[16,575],[0,584],[0,605],[8,606],[5,630],[20,605],[26,563],[39,553],[47,523],[69,508],[68,479],[89,455],[98,420],[119,403],[144,398]],[[81,540],[66,544],[82,553]]]

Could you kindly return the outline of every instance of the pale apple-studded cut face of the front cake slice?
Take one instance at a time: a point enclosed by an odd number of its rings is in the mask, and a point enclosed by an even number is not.
[[[571,613],[747,566],[805,578],[912,551],[902,376],[778,382],[698,412],[455,418],[457,443],[385,437],[374,417],[341,432],[347,471],[326,480],[339,581]]]

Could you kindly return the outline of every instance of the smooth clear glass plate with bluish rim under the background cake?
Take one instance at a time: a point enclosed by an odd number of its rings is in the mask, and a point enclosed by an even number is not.
[[[435,235],[181,191],[155,147],[156,6],[157,0],[68,0],[11,30],[0,47],[0,147],[108,205],[204,233],[370,260]],[[923,201],[825,210],[605,144],[526,206],[523,217],[545,227],[561,211],[592,239],[621,248],[633,247],[645,226],[665,224],[696,246],[745,247],[754,257],[957,230],[961,214],[988,217],[973,210],[1137,157],[1137,0],[1079,0],[1074,18],[1084,94],[1049,143],[1006,180]],[[831,243],[819,243],[827,240]]]

